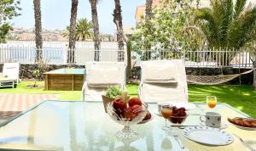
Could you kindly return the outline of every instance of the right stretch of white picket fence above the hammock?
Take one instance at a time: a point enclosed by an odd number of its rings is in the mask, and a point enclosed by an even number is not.
[[[187,67],[205,68],[253,68],[256,61],[250,49],[206,49],[197,51],[143,51],[137,60],[184,59]],[[137,64],[140,65],[140,64]]]

